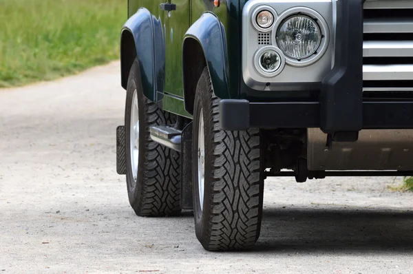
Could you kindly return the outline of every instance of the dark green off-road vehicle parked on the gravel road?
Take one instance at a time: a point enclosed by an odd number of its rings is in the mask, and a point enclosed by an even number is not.
[[[128,10],[117,169],[136,214],[193,209],[205,249],[245,249],[268,176],[413,175],[413,0]]]

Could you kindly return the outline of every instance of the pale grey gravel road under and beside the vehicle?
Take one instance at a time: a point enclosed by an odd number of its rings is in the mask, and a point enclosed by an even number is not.
[[[119,70],[0,89],[0,273],[413,273],[400,178],[268,179],[244,253],[204,251],[191,213],[138,218],[116,174]]]

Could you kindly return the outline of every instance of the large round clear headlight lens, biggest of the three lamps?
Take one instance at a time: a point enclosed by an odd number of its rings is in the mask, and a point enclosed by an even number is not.
[[[278,28],[277,44],[291,59],[306,59],[317,52],[321,43],[319,25],[303,15],[286,19]]]

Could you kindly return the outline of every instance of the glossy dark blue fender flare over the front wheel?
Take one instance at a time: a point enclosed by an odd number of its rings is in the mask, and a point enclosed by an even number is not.
[[[215,96],[230,98],[225,28],[212,12],[205,12],[184,35],[182,67],[185,110],[193,114],[198,79],[207,65]]]

